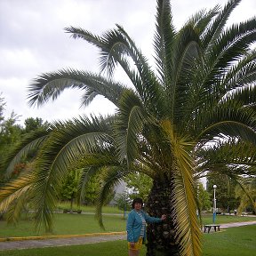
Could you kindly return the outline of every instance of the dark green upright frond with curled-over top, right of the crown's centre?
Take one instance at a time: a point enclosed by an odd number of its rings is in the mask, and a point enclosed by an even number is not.
[[[176,65],[172,70],[172,84],[167,90],[171,96],[170,103],[172,104],[169,105],[168,111],[172,115],[170,117],[174,118],[175,123],[178,124],[180,116],[183,116],[182,121],[188,122],[184,113],[191,113],[192,109],[198,104],[197,97],[193,97],[195,91],[198,93],[196,95],[202,93],[202,89],[199,87],[200,84],[197,86],[196,83],[191,83],[196,60],[200,59],[202,52],[199,47],[199,36],[190,24],[180,30],[176,43],[175,53],[173,53],[173,61]]]

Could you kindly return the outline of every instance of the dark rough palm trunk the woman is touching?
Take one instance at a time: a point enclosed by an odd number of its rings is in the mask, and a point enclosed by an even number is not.
[[[172,182],[155,180],[148,196],[146,212],[153,217],[167,218],[162,223],[148,224],[147,256],[178,256],[179,243],[175,239],[173,217],[175,209],[172,205]]]

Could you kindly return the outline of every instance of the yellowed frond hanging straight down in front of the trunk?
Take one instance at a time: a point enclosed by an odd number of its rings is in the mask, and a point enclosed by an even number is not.
[[[173,138],[169,125],[164,124],[164,129],[169,133],[169,140],[172,143],[173,156],[175,156],[174,180],[172,200],[175,205],[175,227],[177,239],[180,242],[180,255],[200,255],[201,236],[198,218],[196,216],[196,196],[192,175],[190,150],[193,145],[186,141],[186,138]],[[171,132],[171,133],[170,133]],[[167,134],[168,134],[167,133]]]

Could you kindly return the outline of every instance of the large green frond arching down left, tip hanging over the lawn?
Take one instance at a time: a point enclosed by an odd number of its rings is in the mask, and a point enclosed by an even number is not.
[[[111,142],[107,132],[110,119],[88,117],[73,119],[51,133],[46,145],[41,148],[36,162],[36,180],[33,203],[36,205],[36,227],[52,228],[52,212],[57,201],[61,181],[70,165],[86,153],[108,148]]]

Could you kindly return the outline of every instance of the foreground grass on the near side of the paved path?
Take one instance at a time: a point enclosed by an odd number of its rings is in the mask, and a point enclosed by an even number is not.
[[[203,256],[252,256],[256,252],[256,225],[227,228],[222,232],[204,234]],[[1,256],[127,256],[126,241],[85,244],[42,249],[0,251]],[[140,253],[145,255],[146,248]]]

